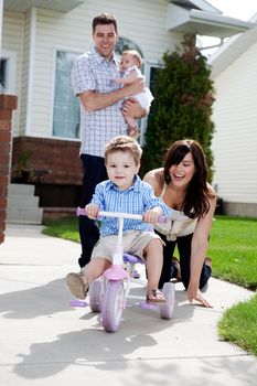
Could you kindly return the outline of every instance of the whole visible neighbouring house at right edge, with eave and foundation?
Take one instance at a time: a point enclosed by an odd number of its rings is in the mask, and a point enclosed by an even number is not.
[[[231,37],[210,64],[216,89],[214,183],[226,214],[257,217],[257,24]]]

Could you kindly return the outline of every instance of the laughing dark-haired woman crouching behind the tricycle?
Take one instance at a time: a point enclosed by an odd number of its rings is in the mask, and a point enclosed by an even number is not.
[[[206,257],[208,235],[216,207],[216,194],[207,183],[207,167],[200,143],[195,140],[174,142],[167,152],[164,168],[148,172],[143,180],[156,195],[171,208],[182,211],[189,219],[154,225],[164,240],[163,267],[159,288],[181,275],[189,301],[211,307],[201,289],[211,277],[211,259]],[[178,245],[180,265],[172,259]]]

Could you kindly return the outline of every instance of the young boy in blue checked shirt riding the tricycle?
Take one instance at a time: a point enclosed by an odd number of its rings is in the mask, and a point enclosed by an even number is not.
[[[162,269],[162,242],[152,229],[149,230],[147,223],[156,223],[160,215],[168,216],[171,210],[137,175],[141,153],[138,142],[128,136],[116,137],[107,143],[105,163],[109,180],[96,186],[92,202],[86,205],[85,211],[92,219],[98,217],[99,211],[143,214],[143,221],[125,218],[124,250],[146,261],[147,302],[165,303],[163,293],[158,290]],[[66,276],[71,292],[78,299],[85,299],[89,283],[111,266],[117,235],[117,218],[103,217],[100,239],[96,243],[83,275],[71,272]]]

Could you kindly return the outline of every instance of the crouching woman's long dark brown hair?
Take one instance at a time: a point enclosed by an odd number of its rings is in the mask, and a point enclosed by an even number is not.
[[[169,184],[171,181],[169,169],[173,164],[179,164],[189,152],[194,160],[195,173],[190,181],[181,210],[186,216],[197,218],[208,212],[208,199],[215,196],[207,186],[207,164],[201,144],[192,139],[174,142],[167,152],[163,173],[165,183]]]

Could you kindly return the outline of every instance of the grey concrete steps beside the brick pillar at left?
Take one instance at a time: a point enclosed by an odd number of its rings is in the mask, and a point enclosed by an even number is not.
[[[43,208],[34,196],[35,186],[10,184],[8,189],[7,223],[42,224]]]

